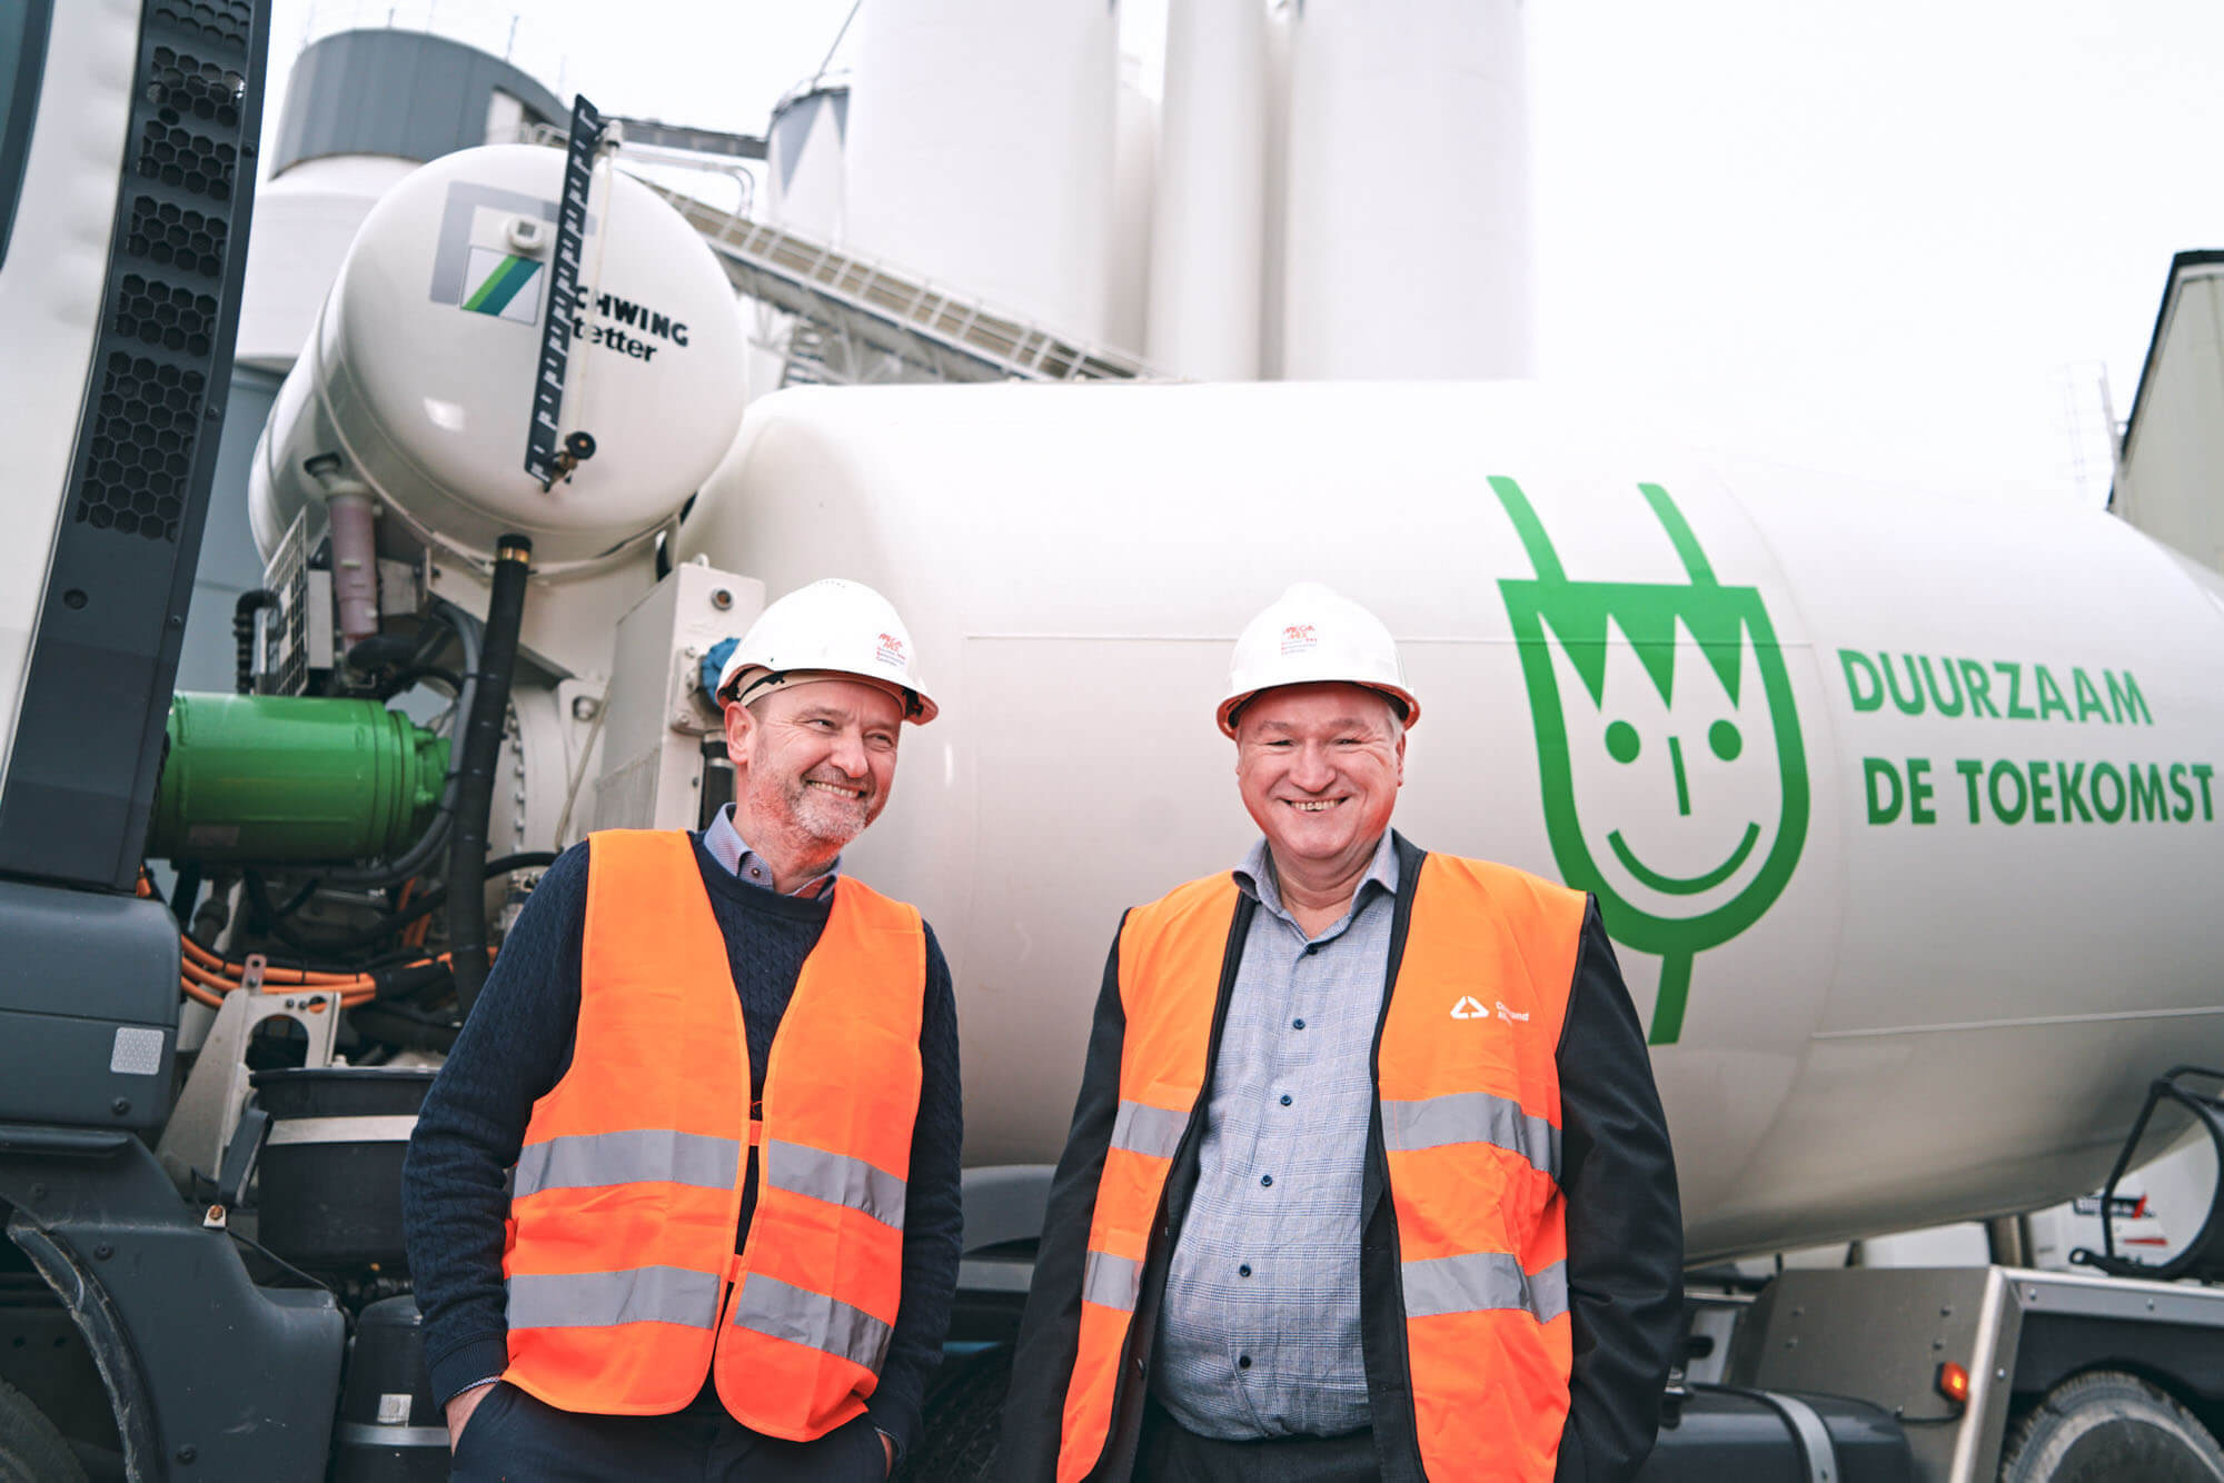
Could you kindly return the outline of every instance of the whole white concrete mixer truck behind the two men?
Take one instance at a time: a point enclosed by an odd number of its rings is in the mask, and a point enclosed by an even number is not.
[[[967,1067],[910,1476],[990,1463],[1103,945],[1237,858],[1210,705],[1297,578],[1374,607],[1428,696],[1401,825],[1595,892],[1624,954],[1706,1263],[1648,1479],[2224,1476],[2208,1218],[2146,1267],[1710,1265],[2224,1136],[2217,1083],[2164,1076],[2224,1065],[2215,571],[2104,514],[1724,467],[1521,385],[743,416],[716,262],[580,129],[365,218],[256,447],[238,685],[173,694],[265,22],[29,18],[44,87],[0,107],[0,1476],[445,1476],[398,1225],[416,1101],[556,849],[727,796],[705,665],[830,574],[901,607],[943,705],[854,852],[936,923]]]

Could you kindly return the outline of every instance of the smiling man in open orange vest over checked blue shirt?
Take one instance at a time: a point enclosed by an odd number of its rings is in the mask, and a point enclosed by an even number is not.
[[[1005,1407],[1003,1474],[1630,1479],[1681,1221],[1597,905],[1390,832],[1421,707],[1299,585],[1221,731],[1263,838],[1128,912]]]

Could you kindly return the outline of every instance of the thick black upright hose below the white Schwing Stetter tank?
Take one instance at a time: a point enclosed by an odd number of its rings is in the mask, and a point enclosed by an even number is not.
[[[494,807],[494,763],[503,752],[503,716],[509,714],[509,676],[518,663],[534,543],[525,536],[503,536],[496,543],[487,634],[478,647],[478,683],[463,727],[456,816],[447,834],[447,952],[463,1014],[471,1012],[487,983],[487,814]]]

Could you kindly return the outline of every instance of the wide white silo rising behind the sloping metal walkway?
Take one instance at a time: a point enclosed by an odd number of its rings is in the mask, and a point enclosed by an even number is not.
[[[1103,340],[1116,2],[887,0],[854,44],[852,251]]]

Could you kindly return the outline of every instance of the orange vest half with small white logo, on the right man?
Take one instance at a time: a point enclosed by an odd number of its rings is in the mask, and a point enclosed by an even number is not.
[[[1559,1456],[1572,1361],[1559,1032],[1581,936],[1579,892],[1421,863],[1374,1089],[1432,1479],[1550,1483]],[[1454,1021],[1463,994],[1506,1014]]]

